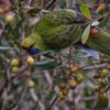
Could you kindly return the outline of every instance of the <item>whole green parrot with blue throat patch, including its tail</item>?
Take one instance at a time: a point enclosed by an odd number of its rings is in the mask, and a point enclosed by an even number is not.
[[[22,41],[21,46],[30,54],[37,54],[42,51],[61,51],[73,44],[81,44],[81,34],[87,23],[88,20],[75,10],[51,11],[35,24],[32,34]],[[95,37],[90,35],[87,46],[110,55],[110,35],[98,30]]]

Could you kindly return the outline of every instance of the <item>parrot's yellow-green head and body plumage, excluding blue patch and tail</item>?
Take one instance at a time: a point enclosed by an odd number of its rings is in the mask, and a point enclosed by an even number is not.
[[[41,51],[62,50],[78,42],[81,35],[80,26],[73,23],[76,18],[77,14],[73,10],[47,13],[35,24],[32,35],[22,42],[22,46],[30,47],[33,45],[35,47],[36,45]],[[31,40],[33,34],[34,40]]]

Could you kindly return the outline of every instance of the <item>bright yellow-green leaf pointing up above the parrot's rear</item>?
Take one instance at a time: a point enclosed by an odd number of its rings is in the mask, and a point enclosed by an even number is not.
[[[91,20],[91,14],[90,14],[90,10],[88,9],[88,7],[86,4],[81,4],[80,7],[80,11],[81,13],[89,20]]]

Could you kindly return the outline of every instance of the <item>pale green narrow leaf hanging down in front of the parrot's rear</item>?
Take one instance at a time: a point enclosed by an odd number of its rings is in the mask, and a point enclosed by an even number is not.
[[[88,38],[89,38],[89,33],[90,33],[90,24],[85,29],[82,36],[81,36],[81,43],[86,44]]]

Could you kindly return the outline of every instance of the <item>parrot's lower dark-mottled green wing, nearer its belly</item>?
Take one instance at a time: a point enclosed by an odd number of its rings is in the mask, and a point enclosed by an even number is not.
[[[42,34],[44,44],[51,50],[61,50],[80,40],[81,29],[78,25],[61,25],[52,30],[51,33]]]

